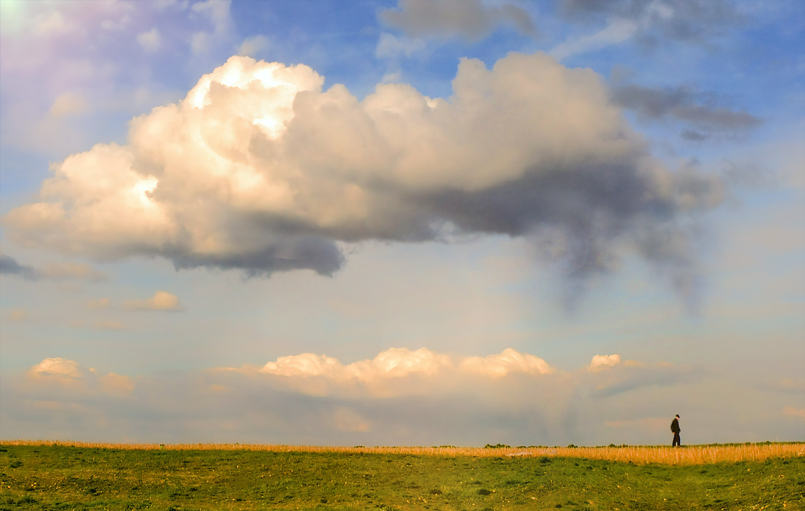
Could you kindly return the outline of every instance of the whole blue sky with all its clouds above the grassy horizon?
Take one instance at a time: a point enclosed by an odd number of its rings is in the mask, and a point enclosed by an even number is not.
[[[802,2],[0,8],[0,438],[805,440]]]

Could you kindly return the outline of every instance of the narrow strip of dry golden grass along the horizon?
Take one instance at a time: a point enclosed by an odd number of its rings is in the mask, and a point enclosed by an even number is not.
[[[4,440],[6,445],[64,445],[106,449],[142,450],[236,450],[339,452],[344,454],[400,454],[440,456],[557,456],[564,458],[609,459],[635,464],[708,464],[718,462],[762,461],[805,455],[805,443],[754,443],[749,445],[711,445],[672,447],[328,447],[246,443],[101,443],[52,440]]]

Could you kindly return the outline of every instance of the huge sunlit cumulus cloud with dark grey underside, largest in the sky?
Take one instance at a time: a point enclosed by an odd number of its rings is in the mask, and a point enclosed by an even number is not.
[[[125,146],[53,165],[41,199],[4,223],[27,246],[250,274],[332,274],[341,243],[456,232],[541,236],[578,278],[623,247],[692,266],[679,216],[712,204],[718,182],[652,158],[589,69],[464,59],[448,98],[379,84],[359,101],[323,84],[233,56],[135,118]]]

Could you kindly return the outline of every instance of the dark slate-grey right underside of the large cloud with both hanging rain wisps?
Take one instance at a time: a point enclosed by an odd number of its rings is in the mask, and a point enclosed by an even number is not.
[[[718,181],[700,175],[675,179],[676,193],[693,202],[710,203],[720,192]],[[568,307],[584,294],[588,278],[612,270],[624,244],[662,270],[688,307],[696,307],[701,279],[695,241],[680,225],[676,196],[658,196],[634,163],[533,172],[481,192],[440,192],[420,204],[468,233],[534,236],[567,277]]]

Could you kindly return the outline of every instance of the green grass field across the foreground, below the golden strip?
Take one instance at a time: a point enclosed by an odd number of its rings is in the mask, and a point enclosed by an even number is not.
[[[0,446],[0,509],[805,509],[805,456],[559,456]]]

